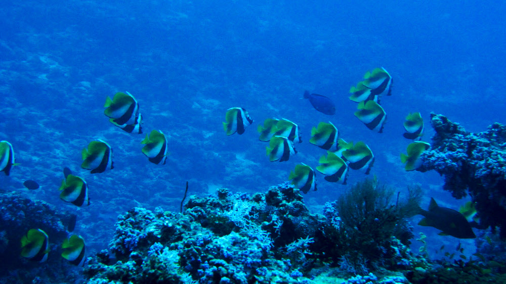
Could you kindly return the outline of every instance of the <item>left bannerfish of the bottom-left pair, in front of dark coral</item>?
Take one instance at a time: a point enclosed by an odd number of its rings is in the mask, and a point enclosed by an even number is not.
[[[48,259],[49,238],[41,229],[29,229],[21,238],[21,256],[31,261],[44,262]]]

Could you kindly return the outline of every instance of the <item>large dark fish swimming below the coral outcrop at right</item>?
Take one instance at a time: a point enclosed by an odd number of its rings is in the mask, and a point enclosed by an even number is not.
[[[450,208],[439,207],[434,198],[431,198],[429,211],[420,208],[419,214],[425,218],[421,219],[418,225],[440,229],[440,235],[451,235],[458,239],[476,238],[471,224],[464,215]]]

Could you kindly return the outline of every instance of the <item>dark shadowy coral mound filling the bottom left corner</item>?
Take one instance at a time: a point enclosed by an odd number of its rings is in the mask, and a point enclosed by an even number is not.
[[[0,282],[56,283],[73,282],[80,276],[77,268],[63,259],[61,244],[67,237],[70,215],[39,200],[15,192],[0,193]],[[49,236],[50,252],[45,263],[30,262],[20,256],[21,238],[31,228]],[[9,261],[5,261],[5,260]]]

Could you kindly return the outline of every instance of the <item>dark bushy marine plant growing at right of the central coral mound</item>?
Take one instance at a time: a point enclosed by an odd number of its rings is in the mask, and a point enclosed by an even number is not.
[[[418,208],[420,187],[408,187],[408,193],[405,200],[394,201],[394,188],[376,178],[357,182],[326,205],[327,223],[312,247],[321,253],[317,257],[330,258],[332,265],[358,274],[404,265],[413,237],[406,218]]]

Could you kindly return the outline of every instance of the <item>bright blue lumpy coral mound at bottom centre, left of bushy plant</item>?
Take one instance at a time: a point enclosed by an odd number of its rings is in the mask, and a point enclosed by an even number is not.
[[[220,188],[190,197],[183,214],[134,208],[120,216],[109,250],[85,273],[89,283],[304,282],[299,269],[317,223],[287,184],[253,197]]]

